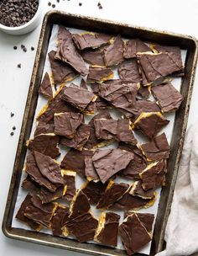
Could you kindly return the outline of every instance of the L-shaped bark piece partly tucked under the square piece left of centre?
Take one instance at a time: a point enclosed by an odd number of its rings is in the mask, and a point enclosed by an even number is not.
[[[80,125],[72,139],[61,137],[60,144],[66,147],[73,147],[79,151],[82,150],[90,136],[90,125]]]

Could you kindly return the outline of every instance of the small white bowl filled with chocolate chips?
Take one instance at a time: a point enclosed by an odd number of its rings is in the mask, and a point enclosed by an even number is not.
[[[0,29],[7,34],[27,34],[40,18],[40,0],[0,0]]]

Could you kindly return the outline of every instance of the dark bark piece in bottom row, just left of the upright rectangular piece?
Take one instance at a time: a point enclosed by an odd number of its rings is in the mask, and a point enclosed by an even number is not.
[[[93,240],[98,221],[90,212],[86,212],[76,218],[66,222],[66,227],[70,233],[76,237],[79,243]]]

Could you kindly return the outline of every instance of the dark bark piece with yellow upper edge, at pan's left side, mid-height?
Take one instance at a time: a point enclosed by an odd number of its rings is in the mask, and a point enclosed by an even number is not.
[[[34,139],[27,141],[27,147],[32,152],[37,151],[46,156],[55,158],[60,155],[58,147],[59,141],[59,136],[55,136],[53,133],[40,134],[39,136],[35,136]]]

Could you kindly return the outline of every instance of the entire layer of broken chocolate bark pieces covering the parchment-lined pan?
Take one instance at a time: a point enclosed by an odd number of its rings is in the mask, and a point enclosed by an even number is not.
[[[39,93],[49,101],[27,141],[23,168],[22,187],[31,193],[16,217],[36,231],[50,228],[54,236],[80,243],[117,247],[119,234],[132,255],[152,240],[154,214],[137,211],[154,205],[156,189],[165,185],[170,148],[161,130],[169,124],[164,115],[183,100],[169,80],[185,73],[180,48],[71,34],[60,26],[57,50],[48,57],[52,76],[44,74]],[[113,79],[116,67],[119,79]],[[70,82],[76,77],[80,85]],[[86,115],[93,115],[88,124]],[[136,131],[147,142],[140,144]],[[115,141],[116,148],[102,148]],[[70,150],[58,163],[60,147]],[[84,180],[81,188],[76,175]],[[91,205],[102,210],[99,220]],[[122,223],[114,211],[124,212]]]

